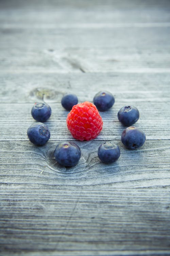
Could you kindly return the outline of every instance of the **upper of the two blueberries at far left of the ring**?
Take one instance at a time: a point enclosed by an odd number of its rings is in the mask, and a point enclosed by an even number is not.
[[[31,115],[38,122],[46,122],[51,115],[51,108],[47,103],[36,103],[32,107]]]

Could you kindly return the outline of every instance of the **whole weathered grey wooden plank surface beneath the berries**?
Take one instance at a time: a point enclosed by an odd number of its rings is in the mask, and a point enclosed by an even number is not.
[[[170,1],[0,2],[0,255],[170,255]],[[73,140],[62,96],[92,101],[106,89],[115,104],[77,166],[54,159]],[[34,102],[50,104],[49,142],[27,129]],[[117,112],[135,105],[146,133],[126,150]],[[121,156],[97,156],[113,140]]]

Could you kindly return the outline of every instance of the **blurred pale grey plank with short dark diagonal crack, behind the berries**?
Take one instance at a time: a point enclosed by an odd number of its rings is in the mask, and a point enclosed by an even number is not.
[[[20,56],[18,58],[18,56]],[[6,47],[0,53],[1,73],[131,72],[170,73],[170,48],[56,48]]]

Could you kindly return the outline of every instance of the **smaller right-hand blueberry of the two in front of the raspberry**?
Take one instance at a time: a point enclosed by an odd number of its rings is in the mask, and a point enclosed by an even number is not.
[[[113,142],[104,142],[98,148],[98,157],[103,163],[113,163],[120,156],[119,147]]]

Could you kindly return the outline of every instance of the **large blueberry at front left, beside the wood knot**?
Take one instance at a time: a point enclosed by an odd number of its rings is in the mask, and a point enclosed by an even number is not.
[[[59,165],[71,167],[78,163],[81,150],[74,142],[63,141],[57,144],[54,157]]]

